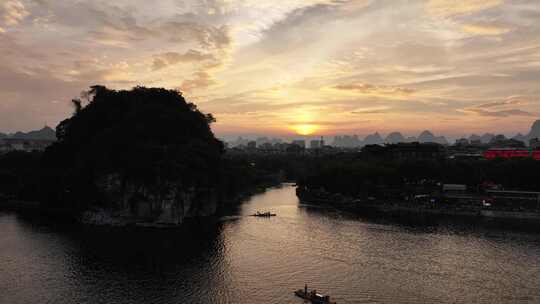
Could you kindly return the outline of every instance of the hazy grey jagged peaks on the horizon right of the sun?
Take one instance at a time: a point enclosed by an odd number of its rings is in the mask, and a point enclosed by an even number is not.
[[[485,133],[483,135],[473,134],[467,138],[469,141],[480,141],[481,143],[488,144],[493,140],[500,140],[505,138],[504,135],[496,135],[493,133]],[[533,123],[531,130],[527,135],[518,134],[512,139],[524,142],[526,145],[533,138],[540,138],[540,120]],[[421,142],[421,143],[438,143],[442,145],[448,144],[448,140],[444,136],[435,136],[431,131],[423,131],[418,137],[404,137],[400,132],[389,133],[383,138],[378,132],[366,136],[363,140],[357,135],[344,135],[334,137],[333,146],[354,148],[365,145],[382,145],[382,144],[396,144],[402,142]]]

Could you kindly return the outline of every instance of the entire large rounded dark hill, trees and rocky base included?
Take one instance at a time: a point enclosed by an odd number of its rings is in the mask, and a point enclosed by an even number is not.
[[[174,222],[208,201],[223,153],[211,115],[174,90],[93,86],[81,95],[43,156],[47,201]]]

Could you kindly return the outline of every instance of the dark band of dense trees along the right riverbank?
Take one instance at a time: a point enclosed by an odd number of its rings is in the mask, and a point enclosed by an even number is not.
[[[391,188],[492,183],[507,189],[540,191],[540,162],[523,160],[392,160],[348,154],[319,158],[299,184],[350,195],[374,195]]]

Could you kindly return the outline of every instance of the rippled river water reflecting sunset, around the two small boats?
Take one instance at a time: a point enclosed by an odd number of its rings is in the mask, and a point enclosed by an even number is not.
[[[339,304],[540,303],[540,234],[367,221],[299,205],[292,186],[190,229],[0,213],[0,303],[302,303],[304,282]]]

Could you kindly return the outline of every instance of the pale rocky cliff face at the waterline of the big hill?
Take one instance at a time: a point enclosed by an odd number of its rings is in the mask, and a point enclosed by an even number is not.
[[[104,197],[102,208],[84,212],[81,221],[93,225],[180,225],[186,218],[210,216],[217,211],[213,189],[182,187],[162,182],[149,186],[122,181],[119,175],[103,176],[97,186]]]

